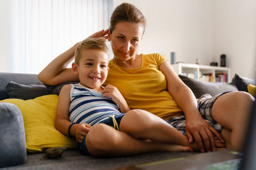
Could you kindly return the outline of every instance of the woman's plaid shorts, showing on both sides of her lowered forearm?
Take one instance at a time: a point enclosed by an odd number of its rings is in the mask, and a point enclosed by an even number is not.
[[[204,120],[208,122],[208,124],[210,124],[211,127],[213,127],[219,133],[221,132],[221,125],[218,124],[212,117],[212,105],[214,104],[214,102],[218,97],[220,97],[225,93],[227,92],[224,92],[222,94],[217,94],[214,97],[212,97],[209,94],[204,94],[197,101],[198,110],[201,113],[202,118],[204,118]],[[168,120],[166,120],[166,122],[168,122],[168,124],[175,127],[175,129],[180,131],[182,134],[186,135],[186,131],[185,131],[186,117],[184,113],[182,113],[177,117],[169,118]]]

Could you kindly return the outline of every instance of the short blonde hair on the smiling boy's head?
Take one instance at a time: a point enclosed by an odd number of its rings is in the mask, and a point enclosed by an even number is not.
[[[102,50],[109,54],[108,46],[106,45],[105,38],[86,38],[77,46],[75,52],[75,63],[79,64],[81,59],[82,50]]]

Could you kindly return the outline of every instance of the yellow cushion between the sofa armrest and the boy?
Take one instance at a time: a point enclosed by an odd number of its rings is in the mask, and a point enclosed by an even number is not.
[[[61,134],[54,127],[58,103],[57,95],[46,95],[26,101],[22,99],[4,99],[0,102],[13,103],[22,112],[28,152],[42,152],[42,148],[58,146],[77,148],[75,139]]]

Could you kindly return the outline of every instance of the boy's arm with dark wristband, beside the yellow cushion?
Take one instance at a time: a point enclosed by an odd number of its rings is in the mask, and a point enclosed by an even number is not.
[[[61,89],[56,109],[55,128],[61,133],[69,136],[68,127],[72,124],[68,118],[70,106],[70,89],[71,85],[65,85]],[[82,142],[84,136],[92,127],[89,124],[74,124],[70,128],[70,134],[76,136],[78,142]]]

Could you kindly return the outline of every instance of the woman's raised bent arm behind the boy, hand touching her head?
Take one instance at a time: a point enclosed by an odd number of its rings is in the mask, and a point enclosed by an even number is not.
[[[98,31],[88,38],[106,38],[108,32],[109,29]],[[38,79],[48,85],[58,85],[68,81],[78,81],[78,76],[72,73],[72,70],[67,68],[67,66],[74,59],[75,50],[79,43],[76,43],[66,52],[61,53],[56,59],[52,60],[52,62],[38,74]]]

